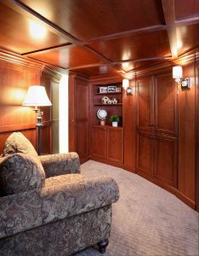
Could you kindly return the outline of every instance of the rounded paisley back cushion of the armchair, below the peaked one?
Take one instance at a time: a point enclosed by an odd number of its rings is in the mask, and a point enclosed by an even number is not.
[[[9,154],[0,159],[0,194],[10,195],[40,189],[45,172],[36,158],[27,154]]]

